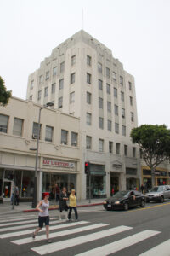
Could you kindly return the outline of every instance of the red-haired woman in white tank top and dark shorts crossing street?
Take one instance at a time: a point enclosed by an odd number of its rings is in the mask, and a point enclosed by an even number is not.
[[[39,227],[34,231],[32,238],[35,239],[35,237],[37,236],[37,233],[40,230],[42,230],[43,223],[45,223],[47,241],[48,243],[51,243],[52,241],[49,240],[49,212],[48,212],[49,201],[48,199],[49,199],[49,193],[48,192],[43,193],[43,200],[37,204],[36,209],[39,211],[39,214],[38,214]]]

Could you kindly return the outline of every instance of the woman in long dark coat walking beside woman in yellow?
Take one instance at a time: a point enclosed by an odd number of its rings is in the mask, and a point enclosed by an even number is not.
[[[68,206],[66,201],[68,200],[68,195],[66,193],[66,188],[64,187],[59,194],[59,220],[61,220],[62,212],[65,211],[65,219],[68,219]]]

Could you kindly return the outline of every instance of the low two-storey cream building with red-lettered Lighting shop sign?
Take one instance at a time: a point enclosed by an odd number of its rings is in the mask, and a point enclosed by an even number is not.
[[[15,97],[0,107],[0,197],[9,201],[14,184],[22,201],[32,201],[37,148],[37,120],[42,106]],[[82,195],[80,120],[51,108],[42,109],[38,154],[38,199],[65,186]]]

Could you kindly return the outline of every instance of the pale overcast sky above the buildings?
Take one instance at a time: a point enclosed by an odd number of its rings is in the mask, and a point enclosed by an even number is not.
[[[139,125],[169,114],[170,0],[0,0],[0,75],[26,99],[27,78],[82,28],[112,50],[136,84]]]

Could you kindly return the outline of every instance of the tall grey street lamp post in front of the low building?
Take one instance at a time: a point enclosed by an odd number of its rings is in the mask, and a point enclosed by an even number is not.
[[[39,149],[41,111],[42,111],[43,108],[48,108],[48,107],[52,107],[52,106],[54,106],[54,103],[53,102],[48,102],[44,107],[39,109],[38,125],[37,125],[36,166],[35,166],[35,175],[34,175],[34,192],[33,192],[32,208],[37,207],[37,164],[38,164],[38,149]]]

